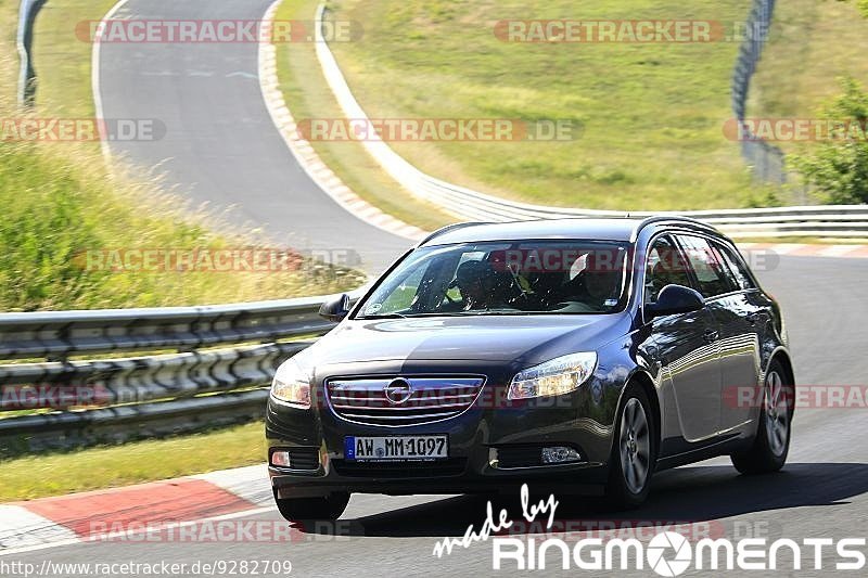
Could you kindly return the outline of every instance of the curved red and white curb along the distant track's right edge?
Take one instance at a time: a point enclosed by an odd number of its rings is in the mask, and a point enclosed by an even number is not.
[[[271,22],[275,18],[275,13],[281,1],[276,0],[268,8],[263,16],[263,22]],[[270,42],[259,43],[259,88],[268,107],[268,114],[271,115],[271,120],[280,131],[290,152],[292,152],[305,172],[326,194],[355,217],[379,229],[412,241],[421,241],[427,236],[427,232],[422,229],[383,213],[354,193],[337,175],[326,166],[326,163],[320,159],[310,142],[301,137],[298,127],[283,99],[283,93],[280,91],[280,81],[277,73],[277,47]]]

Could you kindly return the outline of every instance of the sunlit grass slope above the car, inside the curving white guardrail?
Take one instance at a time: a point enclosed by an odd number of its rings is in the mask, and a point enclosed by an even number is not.
[[[509,18],[743,21],[745,0],[330,2],[361,23],[332,48],[372,117],[571,119],[572,142],[396,143],[446,180],[522,201],[608,209],[756,204],[738,143],[724,138],[738,43],[529,44]]]

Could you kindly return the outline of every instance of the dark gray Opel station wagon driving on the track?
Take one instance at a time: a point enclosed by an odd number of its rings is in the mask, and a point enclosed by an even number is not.
[[[654,472],[779,470],[794,375],[778,304],[731,241],[678,217],[447,227],[283,363],[275,498],[532,491],[640,504]]]

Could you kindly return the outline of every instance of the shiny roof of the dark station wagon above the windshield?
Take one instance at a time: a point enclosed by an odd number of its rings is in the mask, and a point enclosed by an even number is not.
[[[687,217],[541,219],[512,222],[467,222],[445,227],[422,241],[420,246],[476,243],[485,241],[522,241],[529,239],[583,239],[593,241],[634,242],[647,226],[687,226],[717,233],[709,224]],[[719,234],[719,233],[717,233]]]

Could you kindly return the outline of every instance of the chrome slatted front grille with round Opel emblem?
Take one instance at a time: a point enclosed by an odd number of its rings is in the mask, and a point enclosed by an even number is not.
[[[421,425],[467,411],[484,377],[335,377],[326,383],[332,411],[344,420],[381,426]]]

